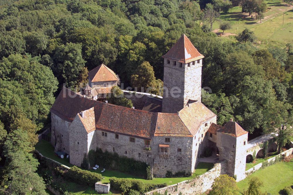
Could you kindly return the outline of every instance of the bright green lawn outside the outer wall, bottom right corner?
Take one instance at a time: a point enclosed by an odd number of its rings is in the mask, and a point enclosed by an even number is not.
[[[272,195],[279,194],[280,190],[284,187],[293,185],[293,159],[291,162],[278,162],[258,170],[246,179],[238,182],[239,194],[243,190],[247,190],[248,181],[251,177],[258,177],[263,181],[264,186],[261,188],[263,192],[267,191]]]

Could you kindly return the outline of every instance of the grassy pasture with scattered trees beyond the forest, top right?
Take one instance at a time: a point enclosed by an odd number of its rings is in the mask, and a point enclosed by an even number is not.
[[[244,28],[248,28],[258,37],[258,43],[261,43],[260,46],[267,46],[268,44],[283,46],[285,43],[293,41],[293,11],[290,6],[279,0],[265,0],[265,2],[272,9],[264,13],[265,19],[262,20],[262,23],[257,23],[259,20],[255,19],[255,13],[252,14],[253,19],[250,17],[242,19],[242,16],[248,14],[242,13],[241,7],[237,6],[230,9],[227,14],[221,13],[220,21],[213,26],[214,32],[218,30],[221,21],[229,21],[232,28],[225,31],[225,33],[238,34]],[[282,11],[287,9],[290,10],[285,12],[284,25],[282,25]],[[222,32],[222,30],[218,30],[218,32]]]

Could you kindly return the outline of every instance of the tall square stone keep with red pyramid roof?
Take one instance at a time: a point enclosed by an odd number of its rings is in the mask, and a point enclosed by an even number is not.
[[[201,101],[202,56],[183,34],[163,56],[162,112],[177,113],[188,101]]]

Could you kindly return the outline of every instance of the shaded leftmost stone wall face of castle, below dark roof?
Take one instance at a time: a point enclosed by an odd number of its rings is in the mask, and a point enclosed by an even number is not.
[[[71,122],[51,112],[51,144],[55,147],[55,152],[63,151],[69,154],[69,125]]]

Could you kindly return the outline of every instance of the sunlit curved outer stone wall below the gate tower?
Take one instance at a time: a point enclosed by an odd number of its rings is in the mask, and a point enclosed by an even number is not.
[[[159,192],[164,194],[167,190],[167,194],[176,194],[182,192],[186,195],[194,195],[194,194],[202,194],[208,189],[211,189],[212,184],[214,183],[214,179],[220,176],[220,174],[224,174],[226,172],[226,162],[221,162],[215,164],[214,167],[207,171],[206,173],[195,177],[191,180],[182,181],[178,184],[174,184],[171,186],[167,186],[161,189],[156,189],[150,191],[146,194],[153,194],[154,192]]]

